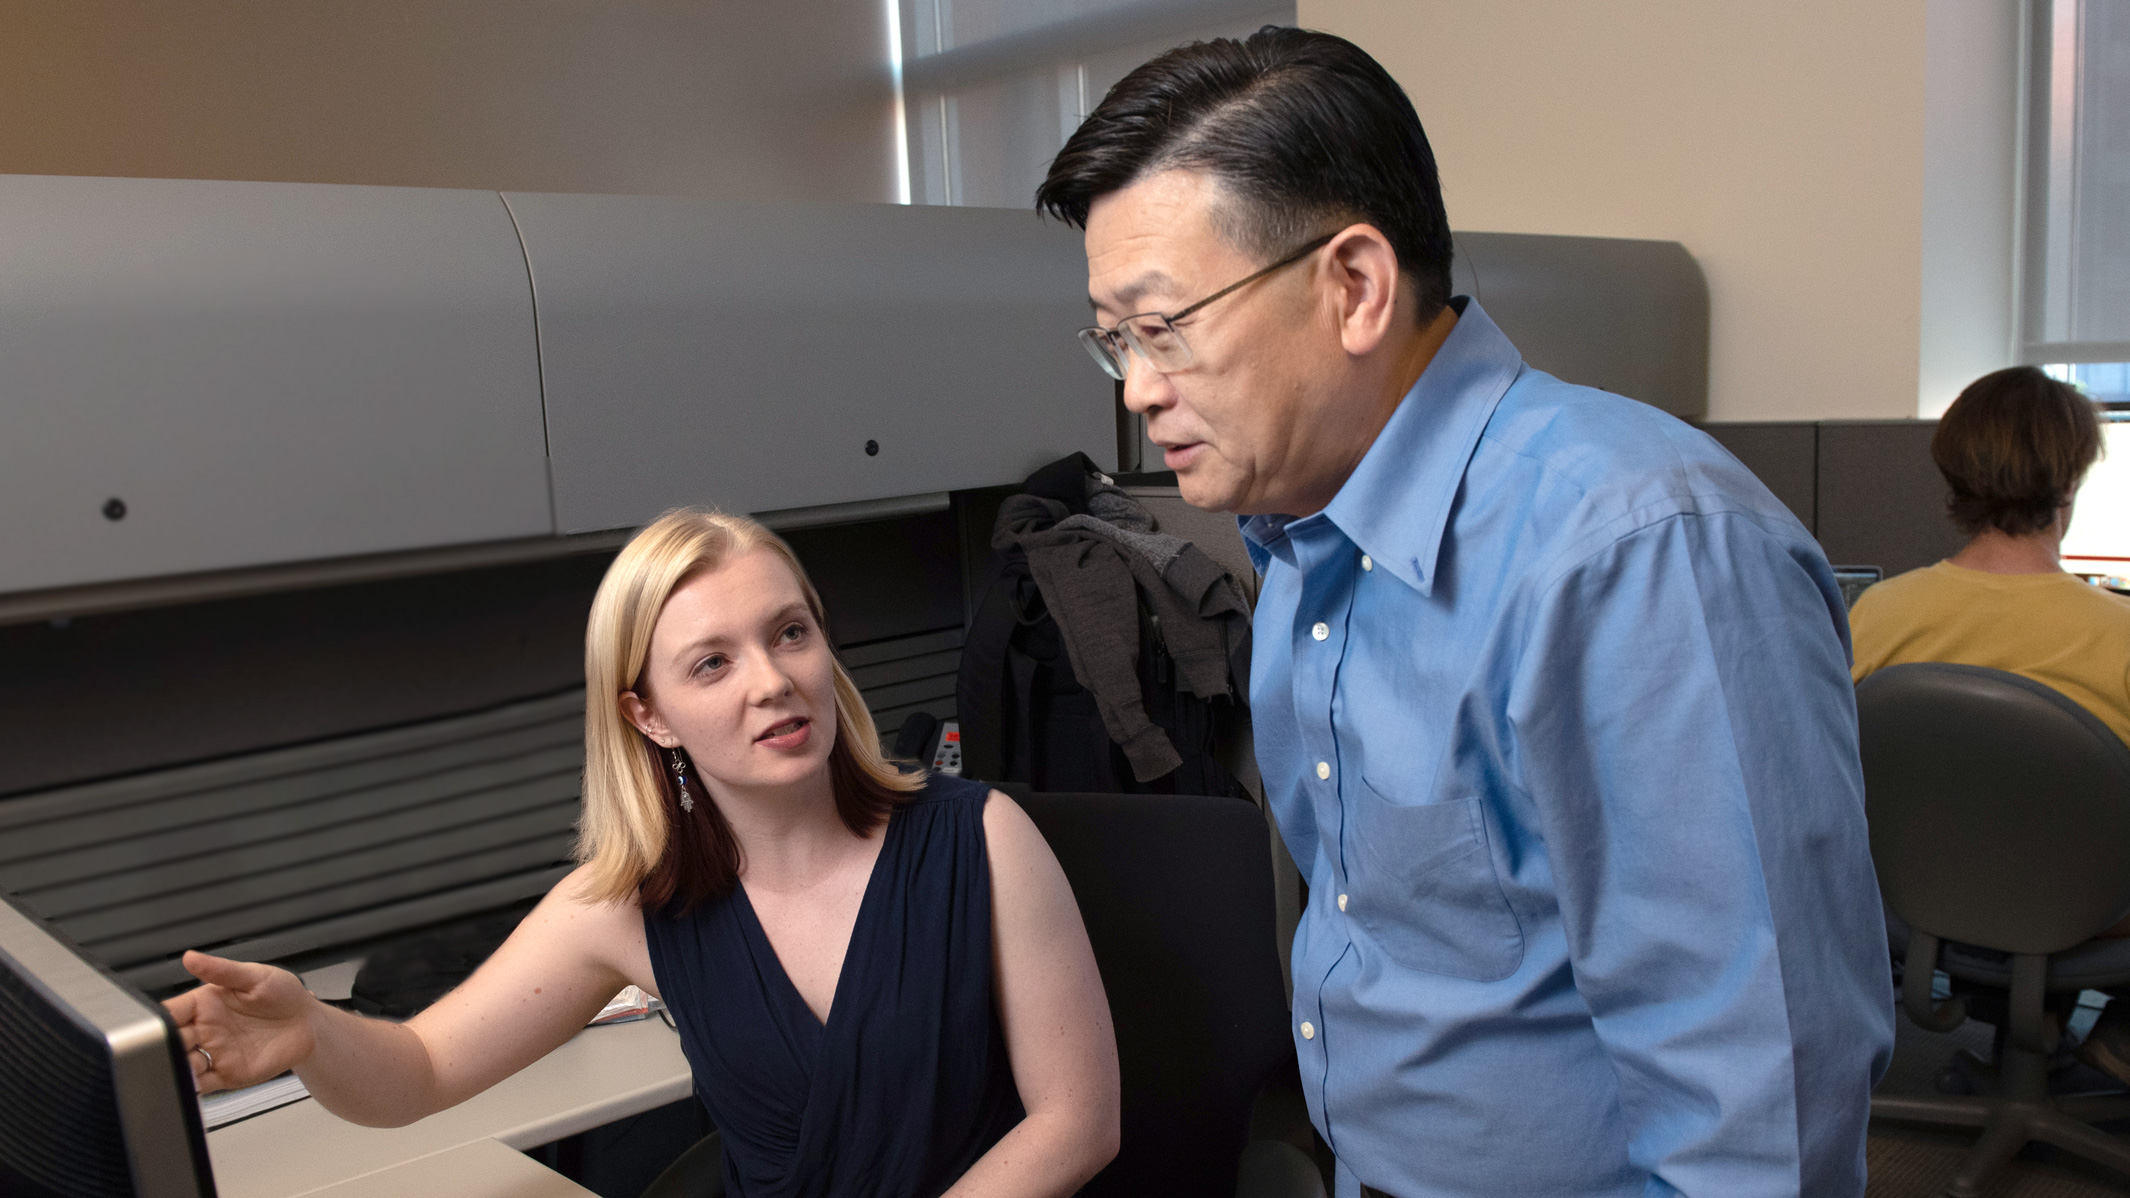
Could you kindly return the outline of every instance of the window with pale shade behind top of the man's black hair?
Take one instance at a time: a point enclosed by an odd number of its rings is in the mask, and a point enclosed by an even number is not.
[[[1295,23],[1267,0],[897,0],[910,198],[1027,209],[1071,130],[1174,45]]]

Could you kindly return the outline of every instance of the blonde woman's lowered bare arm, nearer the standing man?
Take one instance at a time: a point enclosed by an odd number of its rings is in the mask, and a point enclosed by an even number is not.
[[[1035,823],[993,791],[984,838],[999,1019],[1029,1115],[948,1189],[948,1198],[1065,1196],[1116,1155],[1110,998],[1080,923],[1080,904]]]

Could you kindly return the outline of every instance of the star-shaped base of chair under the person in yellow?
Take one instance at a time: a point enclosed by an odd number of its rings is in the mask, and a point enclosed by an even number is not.
[[[2079,1094],[2041,1100],[2004,1098],[1911,1098],[1872,1096],[1872,1119],[1930,1123],[1938,1128],[1981,1128],[1968,1155],[1960,1160],[1945,1192],[1975,1198],[1983,1181],[2032,1140],[2055,1145],[2090,1162],[2130,1175],[2130,1140],[2087,1128],[2087,1121],[2130,1119],[2130,1096]]]

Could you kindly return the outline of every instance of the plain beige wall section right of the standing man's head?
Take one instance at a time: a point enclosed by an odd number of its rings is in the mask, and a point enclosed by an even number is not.
[[[1926,0],[1299,0],[1404,87],[1465,230],[1708,275],[1713,420],[1915,416]]]

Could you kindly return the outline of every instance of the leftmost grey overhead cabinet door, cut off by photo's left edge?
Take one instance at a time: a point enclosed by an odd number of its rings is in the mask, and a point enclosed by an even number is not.
[[[494,192],[0,177],[0,593],[552,531]]]

